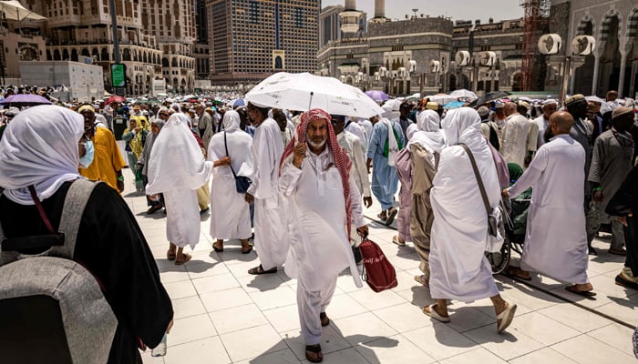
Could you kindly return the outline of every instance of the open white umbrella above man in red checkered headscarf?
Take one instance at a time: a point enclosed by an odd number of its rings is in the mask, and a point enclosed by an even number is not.
[[[276,73],[254,86],[244,99],[259,106],[289,110],[321,108],[335,115],[370,117],[383,113],[360,89],[333,77],[309,73]]]

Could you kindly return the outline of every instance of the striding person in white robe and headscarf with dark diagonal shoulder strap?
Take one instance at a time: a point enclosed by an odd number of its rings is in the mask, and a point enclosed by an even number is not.
[[[499,295],[485,249],[488,214],[478,188],[466,145],[474,156],[483,180],[489,207],[500,199],[499,177],[488,141],[480,134],[476,110],[461,107],[442,122],[448,147],[443,149],[430,191],[434,223],[430,240],[430,295],[437,303],[423,308],[426,315],[449,322],[447,299],[465,302],[490,298],[501,333],[514,317],[516,305]]]

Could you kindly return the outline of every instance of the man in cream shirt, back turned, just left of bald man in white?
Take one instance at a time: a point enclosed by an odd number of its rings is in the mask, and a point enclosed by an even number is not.
[[[508,163],[516,163],[525,167],[525,158],[536,151],[538,136],[530,136],[530,120],[519,114],[513,102],[505,104],[505,115],[508,116],[503,126],[503,137],[500,154]]]

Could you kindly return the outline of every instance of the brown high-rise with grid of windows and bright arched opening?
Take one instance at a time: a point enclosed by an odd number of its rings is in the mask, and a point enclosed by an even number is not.
[[[320,0],[208,0],[213,84],[316,68]]]

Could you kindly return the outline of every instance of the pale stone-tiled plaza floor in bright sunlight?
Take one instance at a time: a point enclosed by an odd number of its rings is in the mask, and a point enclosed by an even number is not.
[[[257,254],[242,255],[239,241],[212,250],[210,215],[201,217],[200,242],[192,260],[175,266],[166,259],[165,217],[146,215],[144,197],[135,194],[130,173],[129,203],[160,268],[175,310],[168,353],[145,363],[300,363],[304,358],[296,307],[296,282],[277,274],[251,276]],[[212,207],[223,208],[223,207]],[[377,203],[365,209],[376,217]],[[601,254],[590,256],[589,274],[598,295],[582,298],[551,278],[520,282],[497,276],[503,298],[519,308],[511,326],[497,334],[489,299],[449,306],[451,322],[438,323],[421,311],[434,302],[413,277],[420,274],[413,246],[399,248],[396,231],[368,218],[370,238],[394,264],[398,287],[375,293],[356,288],[342,274],[326,313],[331,319],[321,342],[324,363],[635,363],[633,329],[638,324],[638,291],[614,284],[623,258],[606,253],[609,238],[597,239]],[[189,250],[186,248],[185,250]]]

